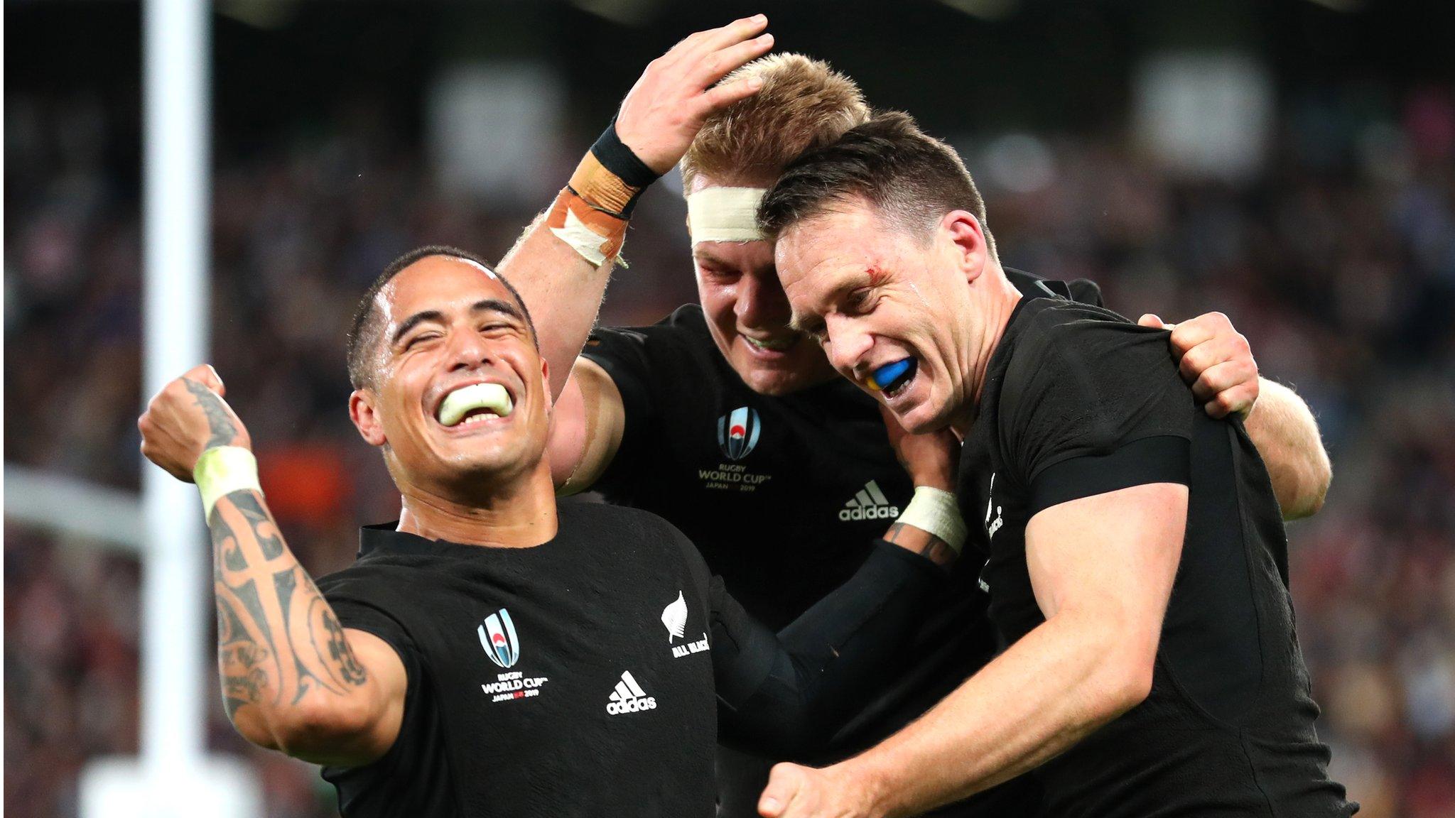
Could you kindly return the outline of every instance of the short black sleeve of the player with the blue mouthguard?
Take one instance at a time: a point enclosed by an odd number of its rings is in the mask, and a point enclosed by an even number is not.
[[[1167,332],[1075,304],[1026,320],[998,428],[1030,512],[1145,483],[1186,485],[1197,406]]]

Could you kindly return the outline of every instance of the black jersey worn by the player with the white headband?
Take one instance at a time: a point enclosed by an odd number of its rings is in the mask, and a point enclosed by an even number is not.
[[[1026,295],[1101,303],[1091,281],[1005,274]],[[621,447],[591,488],[608,502],[671,520],[748,613],[773,627],[853,573],[866,543],[914,493],[873,397],[844,378],[783,396],[752,392],[695,304],[653,326],[598,329],[582,355],[611,376],[626,408]],[[982,560],[969,556],[976,547],[972,525],[970,550],[930,601],[933,613],[906,636],[904,662],[886,668],[874,700],[803,760],[837,761],[882,741],[994,656],[976,584]],[[767,761],[728,755],[725,764],[725,814],[754,815]],[[1033,787],[1021,779],[946,814],[1032,814]]]

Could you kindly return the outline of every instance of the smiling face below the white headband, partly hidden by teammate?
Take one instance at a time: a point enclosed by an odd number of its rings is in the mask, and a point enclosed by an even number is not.
[[[694,191],[716,186],[698,179]],[[773,242],[701,242],[693,247],[697,295],[717,349],[748,389],[786,394],[834,377],[818,345],[789,327],[789,300]]]

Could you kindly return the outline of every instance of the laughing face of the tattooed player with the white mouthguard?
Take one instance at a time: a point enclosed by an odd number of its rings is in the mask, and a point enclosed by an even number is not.
[[[378,294],[374,383],[355,393],[365,440],[396,482],[445,496],[535,469],[546,447],[544,367],[518,303],[485,268],[420,259]]]

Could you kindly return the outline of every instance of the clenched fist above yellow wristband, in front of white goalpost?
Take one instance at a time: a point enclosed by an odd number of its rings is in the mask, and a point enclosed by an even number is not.
[[[141,454],[188,483],[196,458],[218,445],[252,448],[243,422],[223,400],[227,387],[212,367],[192,367],[159,392],[137,419]]]

